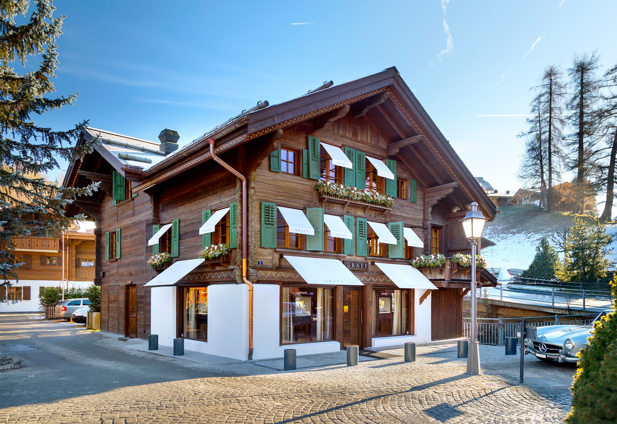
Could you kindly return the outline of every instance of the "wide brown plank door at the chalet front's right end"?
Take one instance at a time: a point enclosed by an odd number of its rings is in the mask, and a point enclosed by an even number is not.
[[[463,336],[463,298],[460,288],[431,292],[431,339],[444,340]]]

